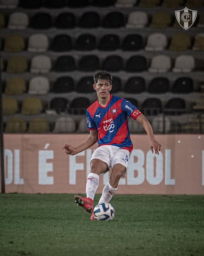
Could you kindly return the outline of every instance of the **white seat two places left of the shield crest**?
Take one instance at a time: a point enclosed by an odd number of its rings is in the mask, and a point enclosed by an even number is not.
[[[147,25],[147,22],[148,22],[148,16],[146,12],[133,11],[133,12],[130,12],[128,16],[126,27],[142,28]]]

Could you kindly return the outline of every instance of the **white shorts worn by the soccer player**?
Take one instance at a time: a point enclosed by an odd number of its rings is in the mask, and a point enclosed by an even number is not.
[[[130,152],[117,146],[104,145],[96,148],[91,156],[92,159],[100,159],[112,169],[116,163],[121,163],[127,169]],[[90,160],[90,161],[91,161]]]

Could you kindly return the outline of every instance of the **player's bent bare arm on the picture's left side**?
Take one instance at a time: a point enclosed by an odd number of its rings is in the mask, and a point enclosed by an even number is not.
[[[97,130],[94,129],[94,130],[90,130],[90,134],[87,140],[81,143],[79,146],[73,147],[72,145],[65,144],[65,146],[62,149],[65,150],[65,154],[67,155],[76,155],[82,152],[83,150],[86,150],[87,148],[93,146],[97,141],[98,141],[98,133],[97,133]]]

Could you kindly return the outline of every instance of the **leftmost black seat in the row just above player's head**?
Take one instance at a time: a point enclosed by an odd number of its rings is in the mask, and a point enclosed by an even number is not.
[[[53,66],[53,70],[57,72],[72,71],[76,68],[75,61],[72,56],[59,56]]]

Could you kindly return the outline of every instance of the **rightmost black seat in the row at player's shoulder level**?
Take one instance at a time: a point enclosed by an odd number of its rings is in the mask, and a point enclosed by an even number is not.
[[[185,100],[181,98],[169,99],[164,106],[165,115],[181,115],[186,112]]]

